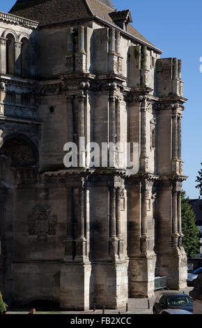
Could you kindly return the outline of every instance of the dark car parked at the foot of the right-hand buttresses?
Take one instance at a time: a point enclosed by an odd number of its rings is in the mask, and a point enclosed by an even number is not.
[[[193,301],[189,295],[180,292],[161,292],[155,300],[153,313],[160,314],[166,309],[179,309],[193,312]]]

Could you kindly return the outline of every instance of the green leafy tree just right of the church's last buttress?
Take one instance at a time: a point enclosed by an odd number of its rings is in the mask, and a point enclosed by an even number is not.
[[[185,234],[183,246],[188,257],[195,257],[199,253],[199,230],[196,226],[196,216],[189,205],[189,197],[182,191],[182,232]]]

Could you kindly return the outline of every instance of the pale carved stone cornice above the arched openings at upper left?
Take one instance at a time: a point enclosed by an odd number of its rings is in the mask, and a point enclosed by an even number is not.
[[[26,18],[18,17],[8,13],[3,13],[2,11],[0,11],[0,21],[20,25],[22,27],[27,27],[28,29],[37,29],[38,27],[38,22],[27,20]]]

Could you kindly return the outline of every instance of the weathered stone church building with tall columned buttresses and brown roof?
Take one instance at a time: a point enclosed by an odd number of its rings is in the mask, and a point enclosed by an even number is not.
[[[0,12],[0,290],[87,310],[186,285],[181,61],[111,0]],[[134,142],[137,172],[63,164],[66,142]],[[78,144],[79,146],[79,144]],[[85,149],[80,149],[85,156]]]

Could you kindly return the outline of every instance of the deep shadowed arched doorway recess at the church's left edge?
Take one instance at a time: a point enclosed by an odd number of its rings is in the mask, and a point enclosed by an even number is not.
[[[8,305],[13,301],[16,177],[18,172],[26,174],[35,167],[38,167],[38,153],[29,138],[20,134],[4,138],[0,149],[0,290]]]

